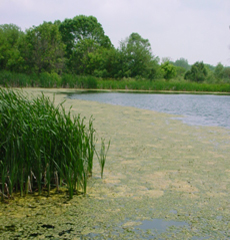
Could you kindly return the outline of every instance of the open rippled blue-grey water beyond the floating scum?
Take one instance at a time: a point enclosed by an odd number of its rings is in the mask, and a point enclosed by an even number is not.
[[[181,115],[190,125],[230,128],[230,96],[192,94],[81,93],[69,96]]]

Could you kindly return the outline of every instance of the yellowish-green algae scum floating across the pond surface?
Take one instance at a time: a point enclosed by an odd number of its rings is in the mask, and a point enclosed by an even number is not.
[[[55,104],[62,90],[44,92]],[[70,92],[66,90],[66,92]],[[172,115],[67,99],[111,139],[104,177],[94,161],[86,196],[15,197],[0,204],[1,239],[229,239],[230,130]],[[96,145],[100,149],[100,144]]]

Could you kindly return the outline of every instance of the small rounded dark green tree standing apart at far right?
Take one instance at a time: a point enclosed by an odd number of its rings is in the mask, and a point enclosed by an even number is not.
[[[192,65],[191,70],[185,73],[184,79],[203,82],[208,76],[208,71],[203,62],[196,62]]]

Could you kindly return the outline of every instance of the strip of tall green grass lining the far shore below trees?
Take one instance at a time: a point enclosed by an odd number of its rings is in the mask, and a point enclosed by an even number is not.
[[[79,89],[112,89],[136,91],[181,91],[181,92],[220,92],[230,93],[229,83],[196,83],[183,79],[121,80],[101,79],[93,76],[77,76],[71,74],[41,73],[26,75],[0,71],[0,85],[11,87],[42,87],[42,88],[79,88]]]

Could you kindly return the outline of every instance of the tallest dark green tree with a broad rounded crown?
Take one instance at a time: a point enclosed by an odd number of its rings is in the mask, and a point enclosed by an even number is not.
[[[76,65],[82,65],[77,67],[77,71],[79,68],[84,68],[88,53],[92,53],[100,47],[106,49],[112,47],[109,37],[105,35],[101,24],[93,16],[80,15],[73,19],[65,19],[59,25],[59,30],[62,40],[66,44],[68,68],[73,72],[76,70]],[[83,71],[80,70],[79,73],[83,73]]]

